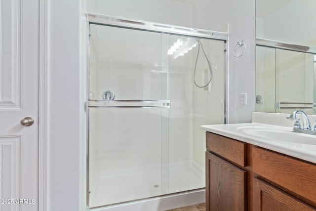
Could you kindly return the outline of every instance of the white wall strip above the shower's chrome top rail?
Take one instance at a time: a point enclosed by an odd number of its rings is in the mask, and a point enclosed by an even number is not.
[[[97,14],[192,27],[192,4],[175,0],[87,0]]]

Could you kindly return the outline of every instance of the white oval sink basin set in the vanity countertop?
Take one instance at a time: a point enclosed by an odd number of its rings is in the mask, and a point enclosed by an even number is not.
[[[237,127],[240,132],[248,135],[254,135],[262,138],[267,138],[275,141],[285,141],[298,144],[311,144],[316,145],[316,136],[295,133],[285,127],[261,127],[261,126],[250,126],[250,127]]]

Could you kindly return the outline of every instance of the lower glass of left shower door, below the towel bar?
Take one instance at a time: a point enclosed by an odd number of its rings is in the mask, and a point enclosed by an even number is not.
[[[90,109],[89,116],[90,207],[162,195],[167,109]]]

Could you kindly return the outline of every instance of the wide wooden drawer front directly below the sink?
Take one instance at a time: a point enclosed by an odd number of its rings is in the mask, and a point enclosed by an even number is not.
[[[253,171],[316,202],[316,166],[258,147],[252,148]]]

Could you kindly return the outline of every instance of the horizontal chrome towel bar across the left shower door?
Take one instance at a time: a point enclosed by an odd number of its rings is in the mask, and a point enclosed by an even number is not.
[[[88,100],[87,108],[170,108],[170,100]]]

